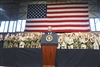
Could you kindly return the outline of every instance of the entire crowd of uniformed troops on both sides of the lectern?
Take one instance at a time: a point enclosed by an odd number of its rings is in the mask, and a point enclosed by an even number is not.
[[[3,48],[41,48],[43,33],[7,34],[3,40]],[[99,49],[100,34],[93,33],[57,33],[57,49]]]

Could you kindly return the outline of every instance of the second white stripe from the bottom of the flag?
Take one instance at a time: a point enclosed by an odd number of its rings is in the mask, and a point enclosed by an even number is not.
[[[33,25],[33,26],[36,26],[36,25],[88,25],[89,22],[58,22],[58,23],[26,23],[26,25]]]

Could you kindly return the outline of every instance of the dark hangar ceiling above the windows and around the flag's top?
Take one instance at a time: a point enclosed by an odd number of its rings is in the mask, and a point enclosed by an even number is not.
[[[42,2],[43,1],[43,2]],[[27,18],[27,4],[89,2],[89,17],[100,18],[100,0],[0,0],[0,20]]]

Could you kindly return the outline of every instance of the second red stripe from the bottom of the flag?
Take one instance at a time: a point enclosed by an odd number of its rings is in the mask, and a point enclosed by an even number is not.
[[[48,27],[48,25],[26,25],[28,28],[31,27]],[[52,27],[87,27],[87,25],[51,25]]]

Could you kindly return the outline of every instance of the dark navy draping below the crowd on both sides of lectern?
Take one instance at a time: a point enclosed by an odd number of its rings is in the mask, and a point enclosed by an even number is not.
[[[56,67],[99,67],[100,50],[57,49]],[[42,67],[42,49],[0,49],[0,66]]]

